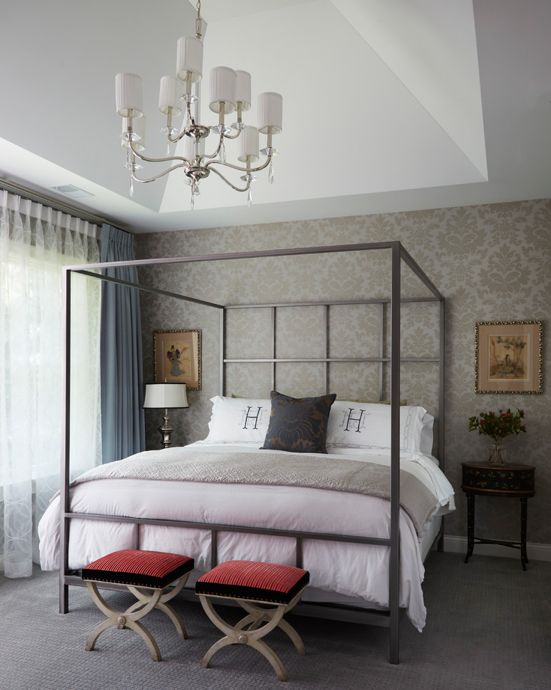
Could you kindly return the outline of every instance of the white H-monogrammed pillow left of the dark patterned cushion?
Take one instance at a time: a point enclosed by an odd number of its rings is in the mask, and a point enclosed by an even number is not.
[[[271,402],[256,398],[211,398],[209,443],[264,443]]]

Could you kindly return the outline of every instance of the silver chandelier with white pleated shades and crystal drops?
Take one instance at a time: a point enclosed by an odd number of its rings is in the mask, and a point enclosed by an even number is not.
[[[269,166],[269,182],[273,183],[272,157],[278,153],[272,146],[272,136],[282,129],[282,97],[280,93],[267,91],[258,96],[258,126],[246,125],[243,112],[250,109],[250,74],[229,67],[215,67],[211,70],[209,108],[218,114],[218,124],[203,125],[199,119],[199,82],[202,79],[203,42],[201,1],[197,0],[197,19],[195,36],[184,36],[178,40],[176,76],[162,77],[160,80],[159,110],[167,116],[166,126],[160,130],[167,135],[167,155],[165,158],[148,158],[142,153],[145,148],[145,116],[142,105],[142,78],[138,75],[121,72],[115,78],[116,112],[123,118],[122,146],[127,149],[126,168],[130,171],[130,196],[134,192],[134,182],[148,183],[158,180],[172,170],[183,169],[186,183],[191,188],[191,208],[199,194],[199,183],[211,173],[222,178],[236,192],[248,192],[248,206],[252,201],[250,185],[256,180],[255,173]],[[195,87],[195,88],[194,88]],[[195,93],[193,93],[195,91]],[[192,108],[193,106],[193,108]],[[174,128],[174,118],[186,112],[186,123],[181,132]],[[225,117],[236,113],[236,122],[227,125]],[[266,135],[266,146],[259,151],[259,133]],[[211,146],[213,153],[205,153],[206,138],[216,137]],[[170,155],[170,144],[184,139],[184,155]],[[225,141],[239,139],[241,165],[226,160]],[[260,159],[266,160],[252,167]],[[169,166],[158,175],[140,179],[136,172],[142,169],[139,160],[151,163],[167,162]],[[230,181],[220,169],[240,171],[243,185]],[[226,173],[227,174],[227,173]],[[237,174],[233,174],[237,177]]]

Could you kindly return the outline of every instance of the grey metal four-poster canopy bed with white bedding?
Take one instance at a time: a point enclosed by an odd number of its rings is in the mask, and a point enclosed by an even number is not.
[[[86,561],[115,549],[162,550],[163,545],[170,544],[172,548],[165,550],[180,548],[182,553],[195,558],[198,576],[201,570],[204,572],[219,560],[229,558],[282,562],[309,569],[311,584],[296,613],[388,627],[390,661],[398,664],[400,619],[407,611],[416,627],[423,627],[422,561],[436,541],[439,540],[441,548],[441,516],[453,509],[453,489],[443,474],[444,298],[399,242],[67,267],[66,371],[70,371],[73,273],[136,288],[135,284],[102,276],[94,270],[129,264],[186,265],[376,250],[388,250],[391,254],[391,293],[383,298],[221,305],[139,285],[142,291],[195,302],[201,308],[220,312],[219,394],[212,398],[213,412],[206,439],[183,448],[144,452],[109,463],[70,484],[70,377],[66,375],[61,492],[59,503],[52,502],[40,525],[43,568],[59,567],[61,613],[68,611],[69,585],[82,584],[78,571]],[[401,297],[403,264],[429,296]],[[400,309],[405,302],[432,302],[439,307],[436,357],[400,358]],[[332,356],[329,313],[333,307],[342,305],[375,305],[378,309],[377,356]],[[287,307],[312,306],[319,307],[323,314],[322,356],[278,358],[276,314]],[[227,358],[228,315],[234,309],[250,308],[269,310],[271,355]],[[389,353],[385,352],[387,321]],[[400,365],[418,361],[433,362],[438,371],[439,461],[432,456],[434,417],[421,406],[400,405]],[[225,397],[228,394],[225,371],[236,362],[269,365],[271,381],[266,381],[264,399]],[[306,452],[296,452],[299,446],[278,445],[277,436],[276,443],[263,445],[274,415],[277,421],[278,406],[287,404],[287,398],[289,404],[296,404],[295,399],[281,397],[274,390],[280,387],[276,367],[281,362],[317,362],[324,367],[326,390],[299,403],[308,408],[308,424],[312,422],[312,410],[314,416],[319,415],[319,401],[327,404],[327,399],[332,398],[329,371],[338,362],[370,362],[379,367],[381,400],[383,371],[389,367],[390,405],[355,400],[333,403],[331,399],[320,431],[323,438],[318,445],[316,441],[314,445],[302,447]],[[273,391],[271,400],[269,390]],[[248,417],[252,416],[255,420],[248,423]],[[349,431],[353,434],[347,434]],[[319,440],[321,436],[315,438]],[[170,496],[177,507],[166,507]],[[175,530],[182,536],[175,537]]]

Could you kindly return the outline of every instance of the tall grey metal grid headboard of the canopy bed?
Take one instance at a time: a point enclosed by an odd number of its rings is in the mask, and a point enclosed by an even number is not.
[[[425,302],[423,313],[417,306],[402,303],[402,312],[412,313],[402,316],[400,399],[436,417],[438,310],[435,302]],[[219,392],[255,398],[274,389],[296,397],[335,392],[338,399],[390,401],[389,319],[385,299],[225,307]]]

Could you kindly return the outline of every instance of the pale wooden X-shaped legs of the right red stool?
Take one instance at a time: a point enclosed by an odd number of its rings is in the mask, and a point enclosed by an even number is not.
[[[216,627],[218,627],[218,629],[226,634],[225,637],[222,637],[222,639],[214,643],[209,651],[206,652],[203,657],[201,667],[207,668],[213,655],[216,654],[218,650],[222,649],[222,647],[236,644],[249,645],[250,647],[253,647],[255,650],[259,651],[264,657],[266,657],[266,659],[268,659],[273,667],[273,670],[276,671],[276,675],[278,676],[279,680],[287,680],[287,673],[285,672],[285,668],[280,658],[276,652],[271,649],[271,647],[262,641],[261,638],[267,635],[274,628],[279,627],[287,634],[287,636],[289,636],[296,648],[296,651],[299,652],[301,656],[306,653],[303,641],[301,640],[299,634],[296,632],[294,627],[292,627],[292,625],[290,625],[286,620],[283,620],[283,615],[285,615],[287,611],[289,611],[299,602],[302,592],[303,590],[297,592],[292,601],[289,601],[289,604],[275,604],[273,608],[256,606],[255,603],[253,603],[250,599],[218,597],[220,599],[234,599],[234,601],[237,601],[245,609],[245,611],[248,611],[248,615],[246,615],[245,618],[242,618],[234,626],[225,622],[225,620],[223,620],[216,612],[211,601],[211,596],[200,594],[199,599],[201,599],[201,603],[206,615],[209,616],[211,621],[216,625]],[[245,631],[244,629],[246,626],[248,627]]]

